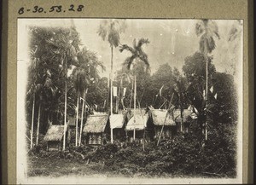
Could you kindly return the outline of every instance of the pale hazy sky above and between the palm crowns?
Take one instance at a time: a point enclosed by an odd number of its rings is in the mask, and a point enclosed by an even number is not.
[[[120,35],[120,43],[132,46],[133,39],[148,38],[150,43],[143,45],[143,49],[148,54],[152,73],[165,63],[182,71],[184,59],[193,55],[199,49],[199,38],[195,34],[195,23],[197,21],[126,19],[126,29]],[[213,55],[213,63],[218,72],[230,71],[234,48],[238,48],[241,53],[242,45],[241,42],[229,43],[227,41],[228,33],[231,27],[236,24],[236,20],[215,21],[218,25],[220,39],[216,39],[216,49],[211,54]],[[26,27],[69,27],[74,24],[80,34],[83,46],[96,52],[99,59],[106,66],[107,69],[105,72],[101,72],[101,76],[108,77],[111,59],[110,46],[108,41],[103,41],[97,34],[102,19],[73,19],[73,21],[71,19],[22,19],[20,22],[21,25],[26,25]],[[120,53],[118,48],[113,49],[113,70],[119,70],[125,58],[130,55],[127,51]]]

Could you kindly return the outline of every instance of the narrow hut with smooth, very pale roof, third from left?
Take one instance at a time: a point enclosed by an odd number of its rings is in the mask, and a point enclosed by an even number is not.
[[[125,115],[112,114],[109,117],[110,128],[113,129],[113,140],[125,140]]]

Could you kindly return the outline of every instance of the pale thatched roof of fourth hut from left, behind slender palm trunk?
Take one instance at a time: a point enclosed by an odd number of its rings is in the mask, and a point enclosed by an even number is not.
[[[131,111],[132,112],[132,111]],[[148,122],[148,113],[145,113],[145,110],[136,109],[135,123],[134,123],[134,115],[131,114],[131,119],[129,119],[126,130],[143,130],[147,126]]]

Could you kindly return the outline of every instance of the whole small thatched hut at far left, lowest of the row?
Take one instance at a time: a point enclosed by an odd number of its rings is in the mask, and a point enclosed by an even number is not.
[[[66,127],[67,132],[67,127]],[[49,129],[44,136],[44,141],[47,142],[47,150],[61,150],[62,142],[64,136],[64,125],[49,125]],[[69,136],[67,135],[67,142],[69,140]]]

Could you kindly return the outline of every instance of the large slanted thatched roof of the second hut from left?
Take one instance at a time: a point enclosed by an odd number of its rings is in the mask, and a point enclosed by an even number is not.
[[[84,133],[102,133],[108,122],[108,114],[95,114],[88,116],[84,125]]]

